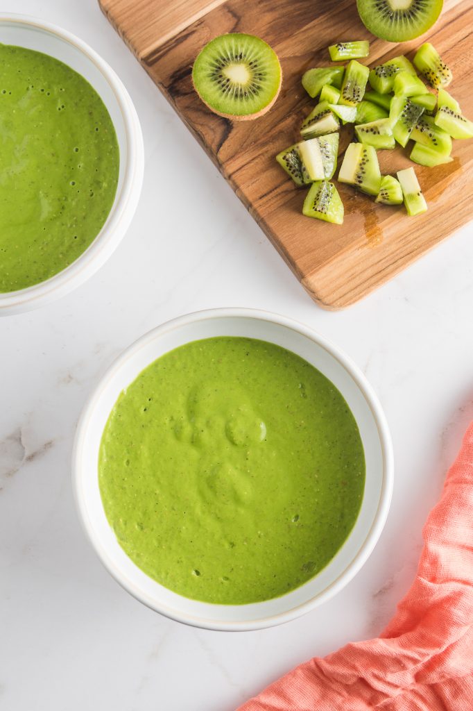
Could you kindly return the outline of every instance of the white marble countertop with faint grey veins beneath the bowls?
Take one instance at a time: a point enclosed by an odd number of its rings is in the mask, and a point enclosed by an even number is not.
[[[473,417],[473,224],[347,311],[310,301],[95,0],[15,0],[119,73],[143,127],[141,202],[92,279],[0,320],[0,707],[232,711],[314,655],[373,636],[415,572],[421,529]],[[473,211],[472,211],[473,216]],[[332,601],[250,633],[152,612],[102,568],[72,501],[70,452],[90,390],[120,351],[188,311],[252,306],[331,338],[374,386],[396,477],[373,555]]]

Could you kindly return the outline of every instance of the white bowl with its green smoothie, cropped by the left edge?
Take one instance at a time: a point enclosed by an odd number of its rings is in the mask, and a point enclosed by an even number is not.
[[[0,14],[0,315],[53,301],[104,264],[143,181],[136,110],[79,38]]]

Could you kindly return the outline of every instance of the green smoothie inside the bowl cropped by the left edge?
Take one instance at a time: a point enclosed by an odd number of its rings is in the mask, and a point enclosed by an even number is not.
[[[118,175],[112,119],[85,78],[0,44],[0,292],[77,260],[107,220]]]

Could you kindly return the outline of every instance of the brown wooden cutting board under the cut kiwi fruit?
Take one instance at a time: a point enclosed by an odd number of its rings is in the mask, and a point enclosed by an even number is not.
[[[355,0],[99,0],[104,14],[230,183],[261,229],[317,304],[340,309],[417,259],[473,217],[473,140],[454,141],[452,163],[416,166],[428,201],[424,215],[337,183],[344,225],[301,214],[305,193],[274,156],[298,140],[315,100],[300,77],[330,65],[327,46],[369,39],[373,65],[401,53],[412,59],[429,39],[450,66],[452,95],[473,119],[473,3],[446,0],[440,20],[423,38],[396,45],[374,39],[357,14]],[[283,87],[276,104],[255,121],[232,123],[212,114],[192,90],[192,63],[210,39],[226,32],[255,34],[281,60]],[[349,136],[342,141],[346,147]],[[381,172],[411,164],[408,148],[379,154]],[[339,164],[340,164],[339,160]],[[337,173],[336,173],[337,175]]]

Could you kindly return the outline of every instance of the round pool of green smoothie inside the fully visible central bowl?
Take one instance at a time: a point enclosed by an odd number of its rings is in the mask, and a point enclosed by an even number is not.
[[[244,604],[314,577],[352,530],[364,450],[322,373],[252,338],[192,341],[116,401],[99,487],[138,567],[185,597]]]

